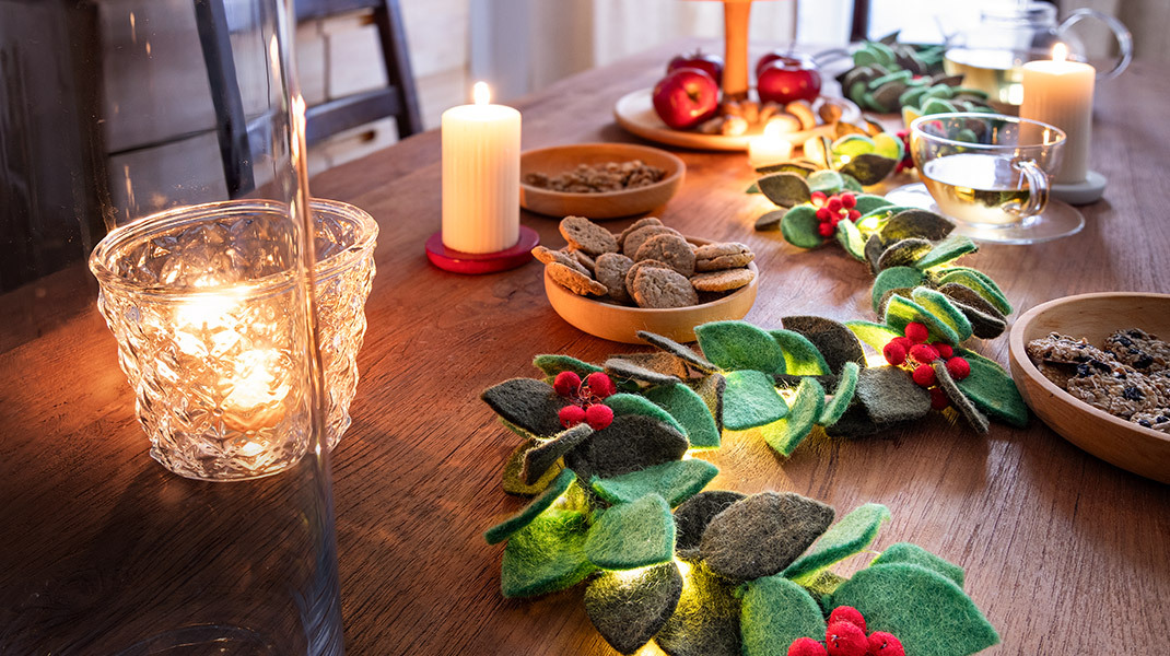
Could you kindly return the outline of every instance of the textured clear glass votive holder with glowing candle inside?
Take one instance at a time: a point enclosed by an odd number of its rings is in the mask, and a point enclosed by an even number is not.
[[[332,448],[350,423],[378,228],[345,203],[310,209]],[[267,476],[309,447],[309,364],[296,357],[308,336],[287,216],[273,201],[181,207],[111,232],[90,257],[151,456],[176,474]]]

